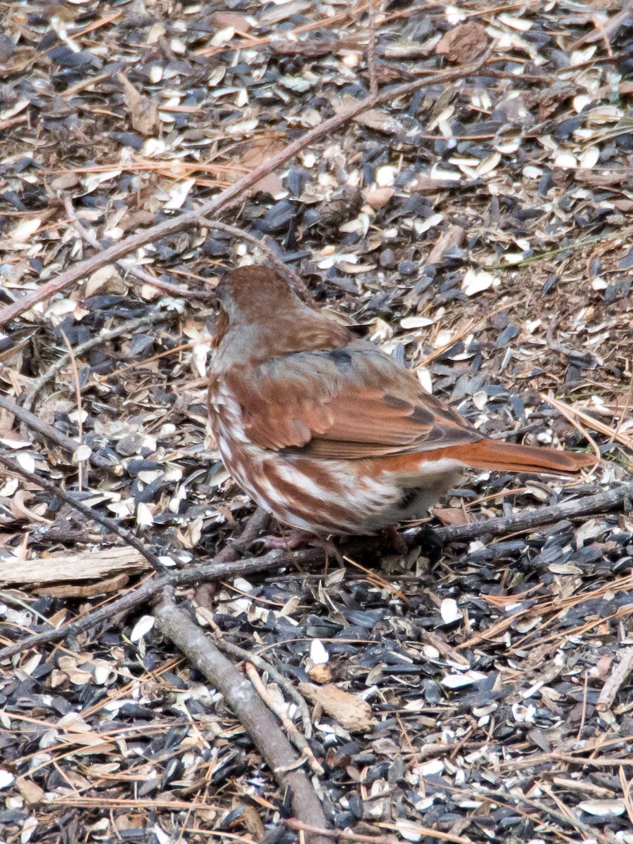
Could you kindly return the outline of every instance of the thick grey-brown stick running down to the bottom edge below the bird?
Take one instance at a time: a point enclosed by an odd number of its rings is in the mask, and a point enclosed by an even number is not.
[[[297,817],[306,825],[317,827],[319,831],[311,836],[312,844],[323,844],[325,837],[320,830],[327,828],[327,819],[322,805],[306,773],[295,768],[299,760],[272,712],[264,706],[252,685],[233,663],[204,636],[192,618],[176,607],[170,595],[165,596],[154,614],[161,633],[168,636],[224,696],[279,785],[289,789]]]

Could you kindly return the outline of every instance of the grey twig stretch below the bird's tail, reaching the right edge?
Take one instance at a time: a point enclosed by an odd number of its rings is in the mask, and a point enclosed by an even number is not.
[[[571,519],[588,516],[593,513],[603,513],[621,505],[627,498],[633,496],[633,481],[622,484],[615,490],[599,492],[597,495],[587,495],[571,501],[563,501],[550,507],[539,507],[538,510],[517,513],[517,516],[486,519],[484,522],[472,522],[468,525],[455,527],[436,527],[434,535],[443,543],[467,542],[482,536],[505,536],[507,533],[525,533],[535,527],[558,522],[560,519]]]

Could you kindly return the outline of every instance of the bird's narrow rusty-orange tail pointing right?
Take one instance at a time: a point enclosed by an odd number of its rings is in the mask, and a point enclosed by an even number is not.
[[[463,461],[475,469],[495,469],[497,472],[551,472],[572,475],[582,468],[595,466],[592,454],[560,452],[553,448],[517,446],[500,440],[479,440],[462,446]],[[460,455],[461,457],[461,455]]]

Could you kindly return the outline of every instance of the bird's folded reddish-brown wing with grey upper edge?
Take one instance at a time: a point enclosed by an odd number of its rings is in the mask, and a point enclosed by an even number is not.
[[[225,381],[245,436],[263,448],[359,459],[480,439],[413,373],[363,341],[235,367]]]

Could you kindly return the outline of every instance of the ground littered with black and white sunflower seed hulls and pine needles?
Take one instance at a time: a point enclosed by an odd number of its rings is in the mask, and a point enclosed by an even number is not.
[[[412,92],[265,176],[219,218],[237,233],[191,225],[3,325],[2,395],[100,466],[7,409],[2,454],[171,565],[213,558],[252,512],[219,462],[205,386],[214,286],[270,260],[257,243],[487,435],[601,454],[576,484],[473,473],[432,525],[630,481],[628,3],[375,5],[379,89]],[[0,3],[0,306],[365,97],[366,9]],[[370,704],[358,732],[314,711],[334,827],[630,844],[632,531],[625,500],[439,559],[365,544],[344,574],[284,565],[178,599],[291,684],[329,680]],[[135,554],[6,473],[3,644],[136,587]],[[148,604],[0,663],[0,723],[6,841],[298,840],[251,739]]]

